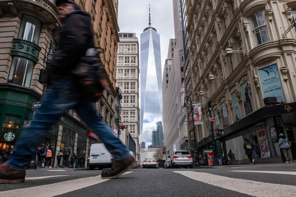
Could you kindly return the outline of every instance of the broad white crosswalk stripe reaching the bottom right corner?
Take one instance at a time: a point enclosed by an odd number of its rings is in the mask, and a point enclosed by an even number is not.
[[[251,181],[245,179],[234,179],[225,176],[213,175],[205,172],[194,172],[194,171],[174,171],[184,175],[190,179],[208,183],[224,189],[237,191],[243,194],[257,196],[257,197],[278,197],[294,196],[296,193],[296,186],[293,185],[281,185],[274,183],[264,183],[259,181]]]

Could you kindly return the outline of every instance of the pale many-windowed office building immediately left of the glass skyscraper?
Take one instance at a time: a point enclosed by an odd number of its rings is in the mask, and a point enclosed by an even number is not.
[[[119,33],[117,87],[121,89],[121,120],[136,143],[139,158],[139,42],[135,33]]]

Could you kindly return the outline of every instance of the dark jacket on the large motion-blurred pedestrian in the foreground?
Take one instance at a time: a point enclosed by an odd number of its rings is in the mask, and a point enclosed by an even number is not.
[[[52,82],[54,78],[70,75],[88,48],[94,48],[90,16],[83,10],[76,10],[62,21],[59,40],[55,42],[48,81]]]

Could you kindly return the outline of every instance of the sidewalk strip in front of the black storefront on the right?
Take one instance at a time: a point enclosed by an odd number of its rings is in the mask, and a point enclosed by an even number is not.
[[[215,168],[294,168],[296,170],[296,162],[292,163],[267,163],[253,165],[229,165],[229,166],[214,166]]]

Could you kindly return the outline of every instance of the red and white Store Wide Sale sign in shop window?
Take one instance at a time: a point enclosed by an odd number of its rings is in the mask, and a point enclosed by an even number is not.
[[[256,125],[256,133],[258,138],[258,144],[260,147],[261,158],[270,157],[269,145],[268,145],[266,130],[263,122],[258,123]]]

